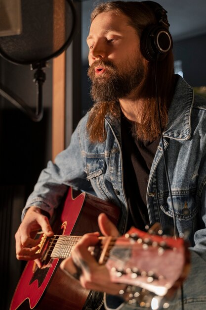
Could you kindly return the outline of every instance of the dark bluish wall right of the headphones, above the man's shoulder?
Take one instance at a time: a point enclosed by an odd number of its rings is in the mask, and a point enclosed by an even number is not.
[[[191,86],[206,85],[206,34],[174,42],[174,58],[182,60],[183,77]]]

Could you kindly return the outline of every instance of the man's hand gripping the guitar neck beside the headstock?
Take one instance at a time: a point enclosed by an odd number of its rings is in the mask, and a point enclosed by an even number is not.
[[[119,232],[116,226],[102,213],[98,217],[100,230],[104,236],[118,236]],[[73,276],[76,276],[81,270],[80,282],[82,287],[117,295],[124,284],[112,283],[110,281],[109,271],[105,265],[99,265],[96,259],[90,254],[88,248],[95,246],[99,239],[99,233],[89,233],[82,237],[82,240],[74,247],[70,258],[61,262],[61,269]]]

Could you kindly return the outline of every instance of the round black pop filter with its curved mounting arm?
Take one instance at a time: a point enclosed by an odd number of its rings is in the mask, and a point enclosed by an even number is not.
[[[35,70],[37,85],[36,112],[21,99],[0,86],[0,95],[21,108],[32,120],[42,118],[43,68],[47,61],[64,52],[70,45],[76,22],[72,0],[21,0],[22,30],[18,35],[0,36],[0,55],[18,65]]]

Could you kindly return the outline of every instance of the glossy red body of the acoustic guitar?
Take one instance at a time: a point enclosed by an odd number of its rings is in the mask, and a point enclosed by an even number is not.
[[[82,236],[99,231],[97,217],[102,212],[117,225],[118,207],[70,188],[63,206],[58,209],[54,233]],[[83,289],[72,277],[68,278],[59,268],[60,262],[61,259],[47,255],[46,263],[40,269],[34,261],[28,261],[14,292],[10,310],[82,310],[90,291]]]

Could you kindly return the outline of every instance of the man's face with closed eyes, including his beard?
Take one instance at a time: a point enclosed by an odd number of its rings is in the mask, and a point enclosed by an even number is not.
[[[87,37],[88,76],[94,101],[117,101],[139,86],[147,64],[139,43],[124,14],[110,11],[95,17]]]

